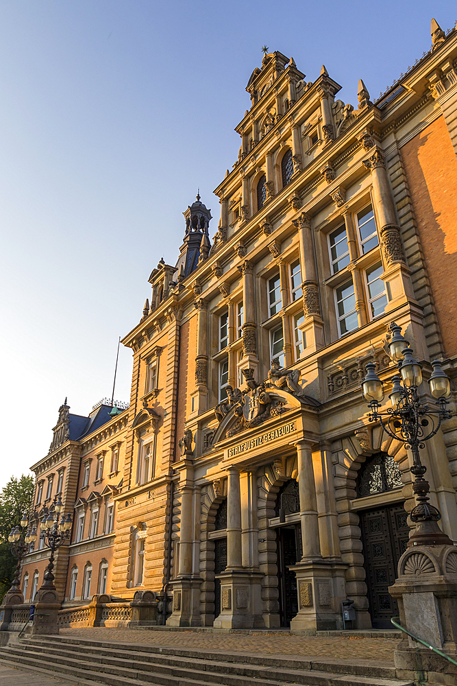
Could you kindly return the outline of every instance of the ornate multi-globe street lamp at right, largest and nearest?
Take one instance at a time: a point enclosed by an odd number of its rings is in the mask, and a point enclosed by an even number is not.
[[[425,440],[432,438],[439,430],[444,419],[451,418],[451,412],[446,409],[449,404],[447,398],[451,394],[449,377],[441,368],[441,363],[434,359],[433,372],[428,381],[430,393],[436,401],[436,409],[430,408],[419,399],[417,389],[422,383],[422,368],[412,357],[412,349],[401,334],[401,327],[393,323],[389,327],[392,337],[388,343],[392,359],[398,364],[401,376],[393,377],[393,388],[389,399],[392,407],[380,412],[384,399],[384,387],[375,372],[375,364],[366,365],[367,376],[362,381],[362,392],[365,400],[369,401],[369,421],[379,421],[388,436],[400,440],[412,453],[410,472],[415,480],[412,490],[416,497],[416,506],[410,512],[410,518],[416,525],[416,530],[410,537],[410,545],[452,545],[451,539],[444,534],[437,522],[441,519],[441,512],[431,505],[428,497],[430,484],[423,475],[427,468],[421,463],[419,449],[425,447]]]

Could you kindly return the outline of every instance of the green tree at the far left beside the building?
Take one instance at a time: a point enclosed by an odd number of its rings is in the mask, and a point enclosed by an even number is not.
[[[10,589],[14,577],[16,560],[10,552],[8,536],[18,526],[23,512],[29,512],[34,492],[34,478],[11,477],[0,493],[0,602]]]

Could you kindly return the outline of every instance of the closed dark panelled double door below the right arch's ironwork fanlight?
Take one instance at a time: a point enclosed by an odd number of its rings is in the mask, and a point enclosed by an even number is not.
[[[360,512],[360,528],[367,573],[371,622],[374,628],[392,628],[398,605],[388,592],[395,583],[398,560],[409,538],[407,514],[402,505]]]

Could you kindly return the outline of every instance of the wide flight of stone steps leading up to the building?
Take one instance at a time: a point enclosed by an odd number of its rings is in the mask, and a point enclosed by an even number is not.
[[[25,637],[0,648],[0,664],[78,686],[413,686],[386,663],[341,664],[267,654],[204,652],[59,636]]]

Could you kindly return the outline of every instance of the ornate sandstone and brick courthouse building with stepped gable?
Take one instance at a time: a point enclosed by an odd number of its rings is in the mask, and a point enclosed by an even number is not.
[[[360,80],[354,109],[325,67],[306,82],[264,54],[217,232],[197,196],[123,339],[129,407],[64,403],[33,467],[37,510],[58,492],[74,510],[65,606],[149,589],[170,626],[301,630],[341,627],[349,598],[354,627],[390,626],[412,462],[360,382],[374,361],[388,406],[396,322],[425,381],[441,359],[456,388],[456,66],[457,30],[432,21],[431,49],[375,102]],[[455,418],[422,458],[457,541]],[[46,557],[25,558],[26,600]]]

